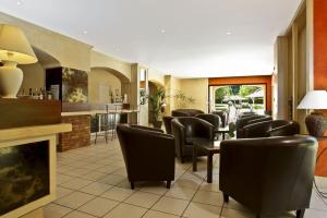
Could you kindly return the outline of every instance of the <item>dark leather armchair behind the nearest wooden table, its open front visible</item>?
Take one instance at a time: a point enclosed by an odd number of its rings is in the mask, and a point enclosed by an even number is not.
[[[214,125],[205,120],[186,117],[174,118],[171,121],[171,132],[174,136],[175,156],[184,162],[186,158],[192,157],[192,140],[209,138],[214,140]],[[206,156],[204,152],[198,152],[197,156]]]

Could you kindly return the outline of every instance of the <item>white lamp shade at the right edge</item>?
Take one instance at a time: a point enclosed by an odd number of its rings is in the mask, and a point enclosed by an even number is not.
[[[327,109],[327,92],[311,90],[301,100],[298,109]]]

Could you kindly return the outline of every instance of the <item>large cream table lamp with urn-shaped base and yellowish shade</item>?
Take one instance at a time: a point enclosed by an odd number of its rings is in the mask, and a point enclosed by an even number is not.
[[[17,64],[37,62],[24,33],[11,25],[0,24],[0,96],[16,98],[23,82],[23,71]]]

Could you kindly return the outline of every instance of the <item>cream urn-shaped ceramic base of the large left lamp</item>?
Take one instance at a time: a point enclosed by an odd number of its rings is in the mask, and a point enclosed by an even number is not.
[[[0,66],[0,96],[2,98],[16,98],[23,83],[23,71],[16,68],[15,62],[4,62]]]

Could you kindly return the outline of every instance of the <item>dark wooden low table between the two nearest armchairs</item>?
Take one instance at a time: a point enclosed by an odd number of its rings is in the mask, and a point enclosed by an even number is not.
[[[213,157],[220,153],[220,141],[211,140],[192,140],[193,144],[193,171],[197,171],[197,150],[204,150],[207,154],[207,182],[213,183]]]

